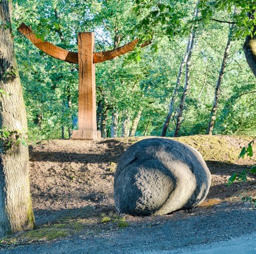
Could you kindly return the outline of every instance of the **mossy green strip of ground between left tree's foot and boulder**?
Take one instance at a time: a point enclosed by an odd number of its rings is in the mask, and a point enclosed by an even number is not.
[[[83,218],[83,216],[81,218],[76,217],[77,213],[76,215],[72,213],[66,214],[59,218],[59,221],[56,223],[36,226],[33,230],[21,231],[0,238],[0,247],[10,247],[35,242],[42,243],[72,237],[72,235],[77,233],[93,236],[96,231],[118,230],[119,228],[129,225],[125,217],[120,217],[118,214],[113,214],[112,212],[107,215],[100,213],[94,218],[90,215],[86,214],[86,218]],[[89,220],[88,217],[90,217]]]

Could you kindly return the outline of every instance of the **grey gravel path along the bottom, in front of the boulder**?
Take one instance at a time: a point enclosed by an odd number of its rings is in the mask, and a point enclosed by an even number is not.
[[[222,207],[153,226],[127,227],[95,237],[77,235],[54,243],[5,249],[2,253],[256,253],[255,209]]]

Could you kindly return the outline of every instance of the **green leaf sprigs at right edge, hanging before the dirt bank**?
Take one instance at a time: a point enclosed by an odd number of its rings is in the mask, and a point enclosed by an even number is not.
[[[253,157],[253,147],[252,144],[254,143],[256,138],[254,138],[246,147],[243,147],[238,159],[244,159],[245,155],[249,156],[250,158]],[[231,186],[233,182],[236,180],[238,182],[246,182],[248,174],[256,174],[256,165],[251,166],[251,168],[243,169],[241,173],[233,173],[232,176],[228,179],[228,186]]]

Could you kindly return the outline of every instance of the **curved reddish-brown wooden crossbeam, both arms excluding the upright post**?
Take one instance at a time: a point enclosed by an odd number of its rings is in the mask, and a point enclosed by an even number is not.
[[[26,24],[21,23],[18,28],[19,32],[24,34],[38,49],[44,51],[47,55],[53,56],[54,58],[66,61],[68,63],[78,64],[78,54],[76,52],[71,52],[61,47],[55,46],[47,41],[42,41],[39,38],[36,38],[31,28]],[[138,44],[138,39],[135,39],[122,47],[118,47],[114,50],[102,51],[102,52],[93,52],[93,63],[102,63],[106,60],[111,60],[116,58],[116,56],[123,55],[125,53],[131,52]],[[150,42],[146,42],[141,45],[145,47],[149,45]]]

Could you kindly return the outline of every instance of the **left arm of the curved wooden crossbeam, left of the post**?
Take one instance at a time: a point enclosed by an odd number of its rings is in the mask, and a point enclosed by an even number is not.
[[[18,28],[19,32],[24,34],[38,49],[44,51],[47,55],[53,56],[54,58],[66,61],[68,63],[78,63],[78,54],[64,50],[61,47],[55,46],[47,41],[42,41],[34,35],[32,29],[24,23],[21,23]]]

